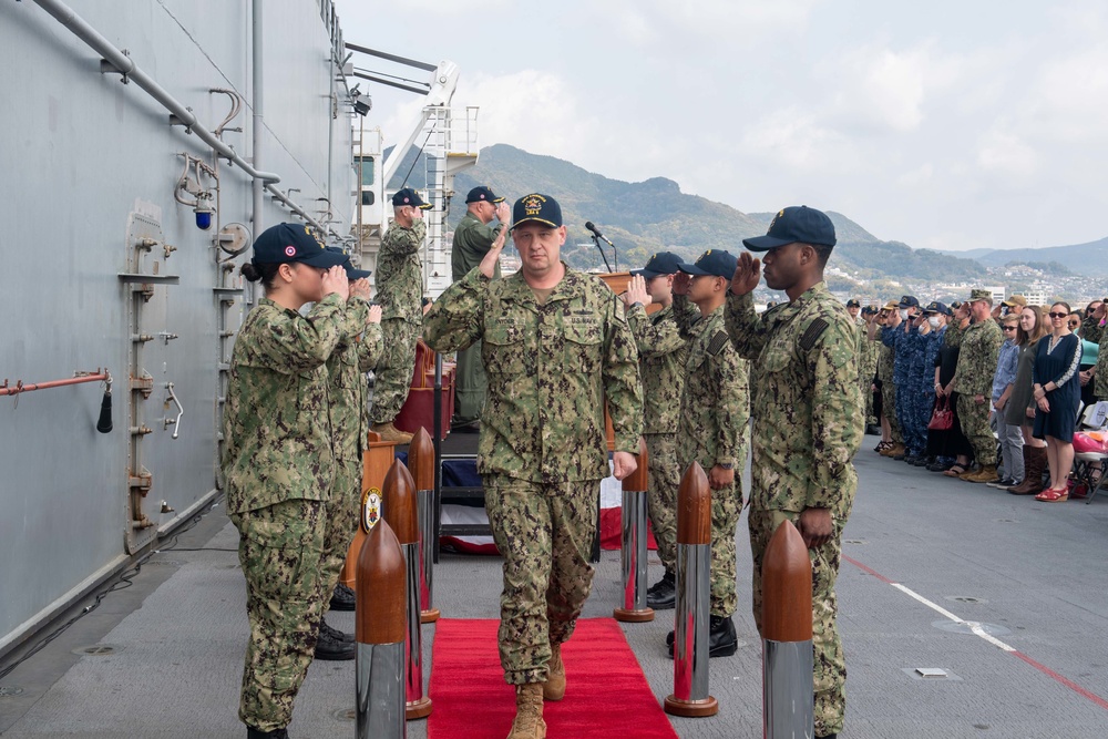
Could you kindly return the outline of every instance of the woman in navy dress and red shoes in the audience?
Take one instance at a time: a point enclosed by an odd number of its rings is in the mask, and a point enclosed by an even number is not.
[[[1074,465],[1074,430],[1081,391],[1078,378],[1081,340],[1069,330],[1069,312],[1066,302],[1050,306],[1054,332],[1038,342],[1032,369],[1032,398],[1036,406],[1032,433],[1036,439],[1046,439],[1046,458],[1050,469],[1050,487],[1036,495],[1035,500],[1046,503],[1069,500],[1067,482]]]

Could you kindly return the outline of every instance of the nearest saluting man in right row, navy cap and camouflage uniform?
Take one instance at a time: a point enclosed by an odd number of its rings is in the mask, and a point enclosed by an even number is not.
[[[758,260],[743,252],[727,299],[727,331],[751,366],[752,462],[750,551],[753,613],[761,630],[761,567],[783,521],[797,525],[812,561],[812,646],[815,736],[838,737],[845,711],[847,667],[835,627],[834,584],[842,530],[858,475],[852,459],[862,441],[858,331],[823,281],[834,226],[806,206],[784,208],[766,236],[742,242],[767,252],[766,285],[789,302],[759,317],[751,292]]]

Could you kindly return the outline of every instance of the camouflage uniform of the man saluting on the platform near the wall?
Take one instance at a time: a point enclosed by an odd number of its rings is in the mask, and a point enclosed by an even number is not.
[[[411,228],[392,222],[377,257],[377,301],[381,304],[383,351],[373,382],[375,423],[391,423],[408,400],[416,371],[416,340],[423,308],[423,271],[419,250],[427,224],[417,218]]]

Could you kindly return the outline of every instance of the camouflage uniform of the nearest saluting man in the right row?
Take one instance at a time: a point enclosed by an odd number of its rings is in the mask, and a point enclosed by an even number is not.
[[[761,630],[762,555],[777,526],[808,507],[831,512],[831,540],[810,550],[815,735],[842,731],[847,668],[835,628],[842,530],[858,486],[851,459],[862,441],[858,332],[818,283],[759,319],[750,295],[727,297],[727,332],[751,372],[750,551],[753,614]]]

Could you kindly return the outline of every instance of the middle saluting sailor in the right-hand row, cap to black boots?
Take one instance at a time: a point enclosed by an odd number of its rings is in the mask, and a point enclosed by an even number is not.
[[[693,462],[699,463],[711,487],[709,657],[728,657],[738,649],[731,620],[739,605],[735,592],[738,563],[735,532],[742,512],[741,475],[749,440],[750,391],[747,362],[728,341],[724,327],[724,304],[735,265],[731,254],[709,249],[696,264],[681,264],[674,283],[674,308],[678,315],[687,315],[688,304],[700,311],[696,324],[679,324],[689,349],[677,427],[677,462],[681,472]],[[673,648],[673,633],[667,646]]]

